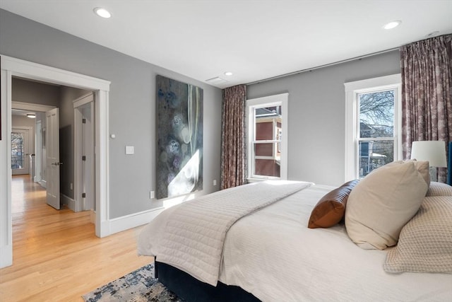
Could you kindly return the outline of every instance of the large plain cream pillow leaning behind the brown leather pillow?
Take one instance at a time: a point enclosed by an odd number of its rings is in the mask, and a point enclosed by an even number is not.
[[[412,161],[374,170],[348,197],[348,236],[364,249],[383,250],[396,245],[400,230],[416,214],[427,189]]]

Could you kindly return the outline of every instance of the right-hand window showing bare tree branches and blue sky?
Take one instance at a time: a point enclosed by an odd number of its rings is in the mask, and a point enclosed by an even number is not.
[[[401,158],[400,74],[345,83],[345,180]]]

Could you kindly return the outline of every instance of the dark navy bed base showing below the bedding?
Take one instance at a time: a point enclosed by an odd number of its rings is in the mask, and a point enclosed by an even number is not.
[[[226,285],[220,281],[217,286],[211,286],[162,262],[155,261],[155,277],[187,302],[260,302],[239,286]]]

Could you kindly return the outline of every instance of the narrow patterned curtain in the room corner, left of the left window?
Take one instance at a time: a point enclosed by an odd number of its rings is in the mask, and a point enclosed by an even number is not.
[[[222,95],[220,190],[246,181],[246,86],[225,88]]]

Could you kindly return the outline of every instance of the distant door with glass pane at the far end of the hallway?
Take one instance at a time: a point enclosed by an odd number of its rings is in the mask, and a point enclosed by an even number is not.
[[[11,131],[11,169],[13,175],[30,173],[30,130]]]

